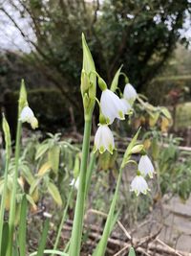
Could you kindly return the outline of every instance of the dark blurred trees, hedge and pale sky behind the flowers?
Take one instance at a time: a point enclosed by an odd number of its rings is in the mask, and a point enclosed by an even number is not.
[[[82,32],[108,84],[123,64],[153,105],[189,102],[190,20],[189,0],[1,0],[1,106],[15,109],[23,78],[40,128],[81,128]],[[189,106],[178,127],[189,126]]]

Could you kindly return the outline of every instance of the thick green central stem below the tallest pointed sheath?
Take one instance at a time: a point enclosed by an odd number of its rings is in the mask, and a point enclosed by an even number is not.
[[[79,188],[74,211],[74,223],[71,237],[71,245],[69,250],[70,256],[78,256],[80,253],[80,244],[82,237],[83,216],[85,208],[86,194],[86,173],[88,164],[88,155],[90,150],[90,136],[92,128],[92,115],[85,118],[85,128],[82,146],[82,159],[79,174]]]

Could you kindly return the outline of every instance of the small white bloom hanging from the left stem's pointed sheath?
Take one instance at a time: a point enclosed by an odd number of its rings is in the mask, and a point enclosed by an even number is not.
[[[23,107],[20,114],[20,121],[22,123],[29,123],[32,126],[32,128],[38,127],[38,120],[35,118],[32,108],[30,108],[28,105]]]

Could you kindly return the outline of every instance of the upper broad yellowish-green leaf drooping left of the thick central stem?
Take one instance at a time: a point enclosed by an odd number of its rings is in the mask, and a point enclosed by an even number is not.
[[[53,169],[53,172],[57,174],[59,168],[59,155],[60,148],[58,145],[53,146],[48,153],[49,163]]]

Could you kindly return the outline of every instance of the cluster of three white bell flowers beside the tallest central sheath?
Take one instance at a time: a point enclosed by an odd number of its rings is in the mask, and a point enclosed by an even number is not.
[[[109,89],[104,89],[100,98],[100,112],[104,117],[104,122],[100,122],[96,130],[95,151],[103,153],[109,151],[113,153],[115,149],[114,136],[108,127],[117,118],[124,120],[125,115],[129,114],[132,105],[137,98],[135,88],[127,83],[124,88],[123,98],[119,98],[116,93]]]

